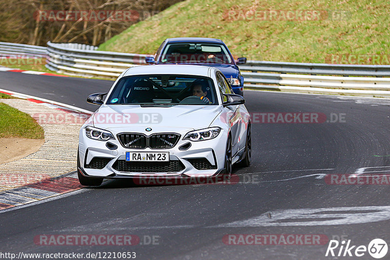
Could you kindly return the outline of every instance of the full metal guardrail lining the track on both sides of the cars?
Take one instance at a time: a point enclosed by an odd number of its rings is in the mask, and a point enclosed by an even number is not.
[[[96,46],[52,43],[47,47],[0,42],[0,55],[46,55],[46,67],[63,74],[117,78],[151,55],[97,51]],[[390,65],[347,65],[250,60],[239,66],[244,87],[300,93],[390,97]],[[337,75],[337,76],[335,76]]]

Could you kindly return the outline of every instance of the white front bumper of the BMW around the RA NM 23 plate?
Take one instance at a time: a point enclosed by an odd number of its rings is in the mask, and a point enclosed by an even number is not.
[[[85,177],[100,177],[100,178],[186,178],[186,177],[212,177],[221,174],[224,169],[225,150],[227,141],[227,131],[221,130],[219,135],[211,140],[193,142],[182,140],[184,134],[180,133],[180,140],[172,149],[127,149],[124,148],[117,140],[98,141],[88,138],[85,135],[85,130],[80,130],[79,135],[79,169],[78,171]],[[117,149],[109,149],[106,143],[112,143],[117,146]],[[179,148],[187,143],[191,143],[191,147],[186,150]],[[119,171],[117,170],[117,161],[124,161],[126,152],[169,152],[170,161],[178,161],[181,165],[179,171],[175,172],[137,172]],[[89,168],[93,158],[107,158],[109,162],[105,167]],[[205,158],[213,168],[211,169],[196,169],[191,159]],[[117,163],[117,164],[116,164]],[[142,162],[153,166],[153,162]]]

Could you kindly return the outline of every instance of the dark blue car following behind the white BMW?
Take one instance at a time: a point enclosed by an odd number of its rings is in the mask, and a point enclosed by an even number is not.
[[[168,38],[154,57],[146,57],[149,64],[191,64],[218,68],[226,77],[235,94],[244,95],[244,77],[237,65],[245,64],[247,58],[233,59],[228,47],[220,39],[213,38]]]

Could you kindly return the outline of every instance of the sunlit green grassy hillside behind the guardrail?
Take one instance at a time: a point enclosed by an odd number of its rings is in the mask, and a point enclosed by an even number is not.
[[[277,20],[248,20],[242,10],[326,11],[320,11],[320,20],[286,20],[279,13]],[[346,16],[337,19],[339,13]],[[235,57],[322,63],[330,54],[390,54],[389,13],[387,0],[186,0],[129,27],[99,50],[154,54],[168,37],[213,37]]]

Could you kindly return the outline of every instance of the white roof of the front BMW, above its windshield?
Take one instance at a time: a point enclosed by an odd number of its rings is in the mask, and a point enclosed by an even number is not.
[[[177,65],[177,64],[162,64],[162,65],[145,65],[129,68],[123,76],[145,75],[145,74],[184,74],[209,76],[209,70],[217,71],[218,69],[208,66],[198,65]]]

